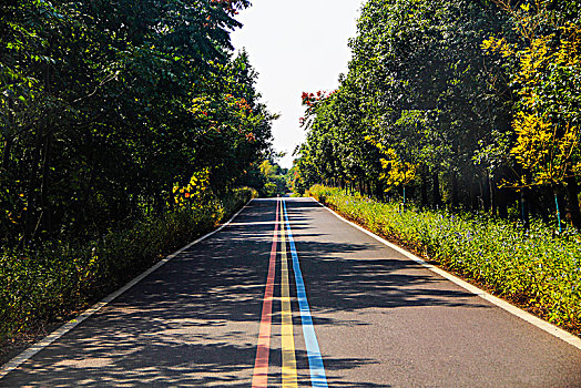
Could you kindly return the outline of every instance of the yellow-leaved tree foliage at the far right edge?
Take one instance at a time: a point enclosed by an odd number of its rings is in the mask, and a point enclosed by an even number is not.
[[[511,80],[519,95],[512,121],[517,141],[511,154],[522,166],[517,185],[560,185],[581,175],[581,28],[553,19],[547,1],[512,8],[520,42],[485,40],[482,47],[516,59]]]

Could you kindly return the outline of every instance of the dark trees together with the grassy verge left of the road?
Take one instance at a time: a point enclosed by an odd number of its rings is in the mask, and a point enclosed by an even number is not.
[[[0,353],[275,195],[246,0],[0,8]]]

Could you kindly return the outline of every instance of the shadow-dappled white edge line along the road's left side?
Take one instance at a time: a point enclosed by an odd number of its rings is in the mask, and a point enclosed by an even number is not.
[[[184,246],[183,248],[180,248],[177,249],[176,252],[172,253],[171,255],[166,256],[165,258],[163,258],[161,262],[157,262],[155,265],[153,265],[152,267],[150,267],[149,269],[145,269],[143,273],[141,273],[140,275],[137,275],[136,277],[134,277],[132,280],[130,280],[128,284],[125,284],[123,287],[119,288],[118,290],[109,294],[108,296],[105,296],[103,299],[101,299],[101,302],[98,302],[96,304],[94,304],[93,306],[91,306],[90,308],[88,308],[86,310],[84,310],[81,315],[79,315],[78,317],[69,320],[68,323],[65,323],[64,325],[62,325],[61,327],[59,327],[58,329],[55,329],[54,331],[52,331],[51,334],[49,334],[47,337],[44,337],[43,339],[41,339],[40,341],[35,343],[34,345],[30,346],[29,348],[27,348],[26,350],[23,350],[22,353],[20,353],[18,356],[14,356],[11,360],[9,360],[8,363],[6,363],[4,365],[2,365],[2,367],[0,368],[0,379],[2,379],[6,375],[8,375],[10,371],[14,370],[16,368],[18,368],[20,365],[22,365],[23,363],[26,363],[27,360],[29,360],[31,357],[33,357],[37,353],[39,353],[40,350],[44,349],[47,346],[49,346],[50,344],[54,343],[57,339],[59,339],[60,337],[62,337],[63,335],[65,335],[67,333],[69,333],[71,329],[73,329],[74,327],[77,327],[79,324],[81,324],[83,320],[85,320],[86,318],[89,318],[90,316],[92,316],[93,314],[95,314],[96,312],[99,312],[101,308],[103,308],[104,306],[106,306],[108,304],[110,304],[111,302],[113,302],[115,298],[118,298],[120,295],[122,295],[123,293],[125,293],[128,289],[130,289],[131,287],[133,287],[134,285],[136,285],[137,283],[140,283],[141,280],[143,280],[145,277],[147,277],[151,273],[153,273],[154,270],[156,270],[157,268],[160,268],[162,265],[164,265],[165,263],[167,263],[169,261],[171,261],[172,258],[174,258],[175,256],[177,256],[179,254],[181,254],[182,252],[184,252],[185,249],[190,248],[191,246],[200,243],[201,241],[203,239],[206,239],[207,237],[212,236],[213,234],[222,231],[224,227],[226,227],[227,225],[230,225],[230,223],[236,218],[238,216],[238,214],[242,213],[243,210],[245,210],[249,204],[251,202],[253,202],[254,200],[251,200],[248,201],[238,212],[236,212],[236,214],[234,214],[225,224],[222,224],[220,227],[217,227],[216,229],[203,235],[202,237],[197,238],[196,241],[187,244],[186,246]]]

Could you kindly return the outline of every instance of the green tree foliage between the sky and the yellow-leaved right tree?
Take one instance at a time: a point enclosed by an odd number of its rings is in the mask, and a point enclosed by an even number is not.
[[[499,174],[510,130],[506,74],[480,44],[504,30],[508,17],[486,2],[368,0],[338,90],[303,95],[300,187],[366,183],[381,193],[437,175],[456,206],[453,181]]]

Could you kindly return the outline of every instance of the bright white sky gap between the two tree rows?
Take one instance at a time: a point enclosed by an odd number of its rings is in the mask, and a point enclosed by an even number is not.
[[[281,118],[274,122],[274,147],[286,152],[278,161],[290,167],[293,151],[305,140],[298,119],[302,92],[333,91],[347,72],[347,47],[356,34],[363,0],[252,0],[237,16],[244,27],[232,33],[234,48],[246,48],[258,72],[262,101]]]

